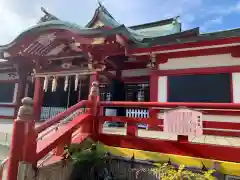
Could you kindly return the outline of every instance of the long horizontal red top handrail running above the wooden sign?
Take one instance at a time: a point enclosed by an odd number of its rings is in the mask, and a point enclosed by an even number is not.
[[[137,108],[175,108],[179,106],[189,108],[206,109],[238,109],[240,103],[188,103],[188,102],[126,102],[126,101],[101,101],[100,106],[104,107],[137,107]]]

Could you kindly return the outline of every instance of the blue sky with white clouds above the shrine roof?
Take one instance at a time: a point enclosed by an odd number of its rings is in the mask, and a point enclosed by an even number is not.
[[[101,0],[122,24],[137,25],[180,15],[183,29],[211,32],[240,27],[240,0]],[[84,26],[97,0],[0,0],[0,44],[13,40],[43,15],[43,6],[59,18]]]

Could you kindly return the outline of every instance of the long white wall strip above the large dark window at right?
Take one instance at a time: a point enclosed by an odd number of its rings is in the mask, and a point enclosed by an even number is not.
[[[210,56],[172,58],[168,59],[167,63],[159,64],[158,68],[159,70],[174,70],[238,65],[240,65],[240,58],[233,58],[231,54],[220,54]]]

